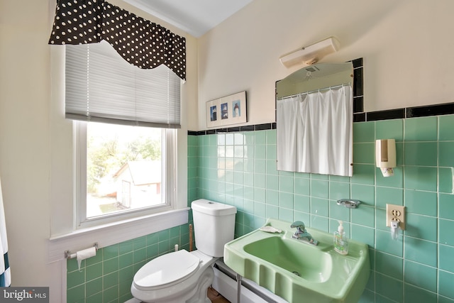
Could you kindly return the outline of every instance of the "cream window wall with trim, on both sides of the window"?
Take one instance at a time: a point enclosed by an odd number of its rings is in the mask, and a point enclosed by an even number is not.
[[[179,131],[179,197],[187,203],[187,126],[196,104],[196,40],[124,4],[109,1],[187,37],[187,77]],[[48,239],[72,227],[72,126],[52,86],[58,46],[48,45],[55,0],[0,1],[0,177],[13,286],[48,286],[65,301],[65,266],[48,263]],[[60,47],[61,48],[61,47]],[[192,121],[196,127],[196,121]],[[54,229],[51,231],[51,229]],[[62,251],[63,253],[63,251]]]

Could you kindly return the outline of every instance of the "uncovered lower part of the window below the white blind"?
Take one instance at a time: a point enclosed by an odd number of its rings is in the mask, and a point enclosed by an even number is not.
[[[175,130],[80,121],[74,125],[80,226],[172,207]]]

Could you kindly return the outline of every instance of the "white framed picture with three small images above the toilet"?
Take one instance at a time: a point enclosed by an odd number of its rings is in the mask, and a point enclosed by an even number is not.
[[[206,127],[227,126],[247,122],[246,92],[206,102]]]

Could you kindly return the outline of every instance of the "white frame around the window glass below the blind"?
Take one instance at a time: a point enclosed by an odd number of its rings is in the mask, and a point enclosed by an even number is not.
[[[165,204],[87,218],[87,122],[73,121],[75,229],[89,228],[174,209],[177,197],[177,131],[162,128],[162,193]],[[164,158],[162,157],[162,158]]]

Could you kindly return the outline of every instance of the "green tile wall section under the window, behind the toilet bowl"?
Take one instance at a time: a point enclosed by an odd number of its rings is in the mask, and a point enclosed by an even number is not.
[[[95,257],[82,260],[80,271],[76,259],[67,260],[67,303],[123,303],[131,299],[135,272],[172,251],[175,244],[188,249],[188,224],[100,248]]]

